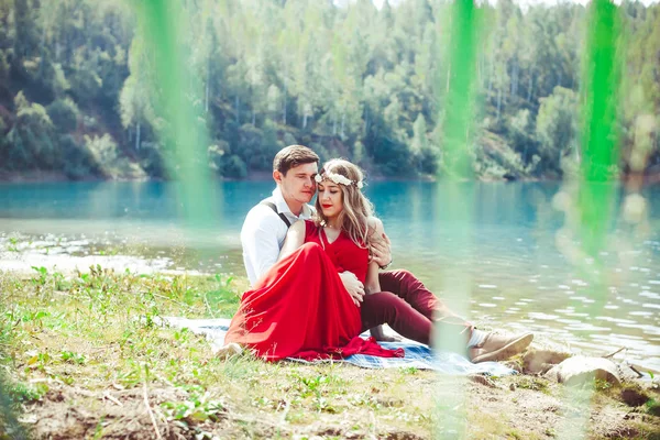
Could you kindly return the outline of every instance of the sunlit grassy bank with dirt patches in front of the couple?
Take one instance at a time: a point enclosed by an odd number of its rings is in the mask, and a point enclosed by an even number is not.
[[[499,378],[497,388],[468,383],[465,399],[448,407],[453,399],[443,389],[453,388],[442,381],[452,377],[414,367],[265,363],[250,354],[219,359],[204,338],[158,324],[164,316],[230,317],[245,288],[245,279],[226,275],[143,276],[99,266],[0,273],[0,439],[20,438],[16,419],[36,438],[417,439],[451,431],[457,420],[465,438],[556,432],[544,413],[538,428],[534,420],[516,425],[520,405],[534,415],[549,404],[529,403],[557,396],[557,385],[542,378]],[[648,406],[657,408],[656,400]],[[644,425],[635,432],[653,432],[647,421],[632,422]]]

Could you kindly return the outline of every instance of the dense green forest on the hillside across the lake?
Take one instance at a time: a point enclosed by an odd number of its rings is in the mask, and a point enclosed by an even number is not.
[[[223,178],[301,143],[382,178],[443,163],[448,3],[182,0],[186,91]],[[581,161],[587,7],[479,7],[476,178],[561,179]],[[624,2],[616,176],[660,174],[660,4]],[[173,178],[158,72],[122,0],[0,0],[0,179]],[[183,146],[186,147],[185,145]]]

